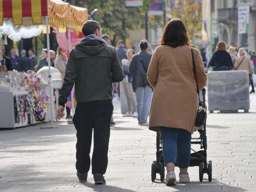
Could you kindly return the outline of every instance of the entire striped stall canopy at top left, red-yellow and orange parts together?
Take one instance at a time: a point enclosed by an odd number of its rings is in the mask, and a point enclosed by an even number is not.
[[[61,0],[0,0],[0,26],[3,18],[13,18],[14,25],[45,24],[44,16],[47,15],[49,24],[60,28],[72,25],[76,31],[81,31],[88,10]]]

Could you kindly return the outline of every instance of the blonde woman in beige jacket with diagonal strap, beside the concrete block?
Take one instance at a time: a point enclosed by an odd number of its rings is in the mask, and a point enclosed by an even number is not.
[[[254,70],[252,69],[250,57],[246,56],[246,51],[244,48],[240,48],[237,53],[238,57],[235,61],[235,70],[246,70],[249,73],[249,81],[252,86],[252,90],[250,93],[255,93],[252,74],[254,74]]]

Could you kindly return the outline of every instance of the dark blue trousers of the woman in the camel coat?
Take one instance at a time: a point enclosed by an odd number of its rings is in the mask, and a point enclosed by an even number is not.
[[[180,168],[188,168],[191,151],[191,133],[185,129],[169,127],[160,127],[160,130],[163,141],[164,164],[177,163]]]

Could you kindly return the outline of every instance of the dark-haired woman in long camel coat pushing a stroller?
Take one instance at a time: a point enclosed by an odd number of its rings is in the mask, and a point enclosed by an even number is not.
[[[190,40],[180,19],[167,23],[153,53],[147,79],[155,89],[150,109],[149,129],[162,134],[163,158],[167,168],[166,185],[175,185],[176,156],[180,182],[189,182],[191,134],[198,110]],[[199,90],[207,76],[200,52],[193,49]]]

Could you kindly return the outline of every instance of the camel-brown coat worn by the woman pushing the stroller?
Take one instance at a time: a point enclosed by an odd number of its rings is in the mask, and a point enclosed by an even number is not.
[[[200,52],[193,48],[199,89],[207,75]],[[190,47],[161,45],[153,53],[147,79],[155,89],[150,108],[149,129],[159,133],[159,126],[181,128],[193,133],[198,110],[198,94]]]

